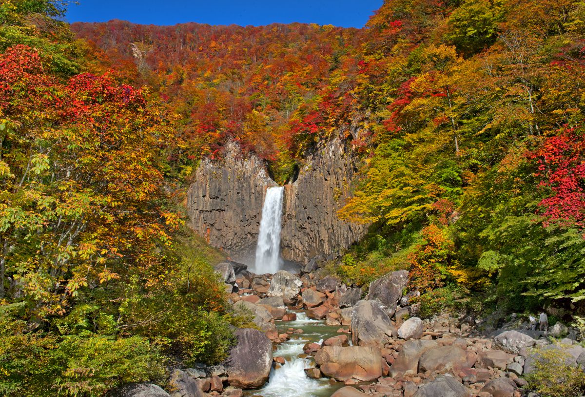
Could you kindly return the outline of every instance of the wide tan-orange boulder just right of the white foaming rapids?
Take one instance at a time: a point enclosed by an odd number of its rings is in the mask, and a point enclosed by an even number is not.
[[[325,346],[315,355],[322,374],[345,382],[347,379],[371,381],[382,376],[380,349],[364,346]]]

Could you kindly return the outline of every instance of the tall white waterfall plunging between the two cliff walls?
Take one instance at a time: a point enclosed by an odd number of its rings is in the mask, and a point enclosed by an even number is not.
[[[276,273],[280,269],[280,230],[283,218],[284,187],[269,187],[264,198],[258,245],[256,245],[257,274]]]

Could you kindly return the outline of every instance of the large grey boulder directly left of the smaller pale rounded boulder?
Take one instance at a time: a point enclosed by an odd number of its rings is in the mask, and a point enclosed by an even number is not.
[[[353,306],[352,342],[354,345],[383,346],[396,333],[392,321],[378,300],[360,300]]]

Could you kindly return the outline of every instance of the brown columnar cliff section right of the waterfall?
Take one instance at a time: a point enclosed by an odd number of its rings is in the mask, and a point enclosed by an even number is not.
[[[339,138],[320,145],[307,158],[298,179],[284,187],[283,258],[307,263],[363,237],[365,225],[350,224],[337,216],[356,172],[356,159]]]

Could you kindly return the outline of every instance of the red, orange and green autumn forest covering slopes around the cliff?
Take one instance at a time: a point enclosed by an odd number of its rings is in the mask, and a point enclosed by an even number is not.
[[[184,227],[229,141],[276,182],[339,133],[362,159],[327,269],[407,269],[422,315],[585,316],[585,2],[386,0],[363,29],[61,22],[0,4],[0,394],[103,395],[225,359]]]

